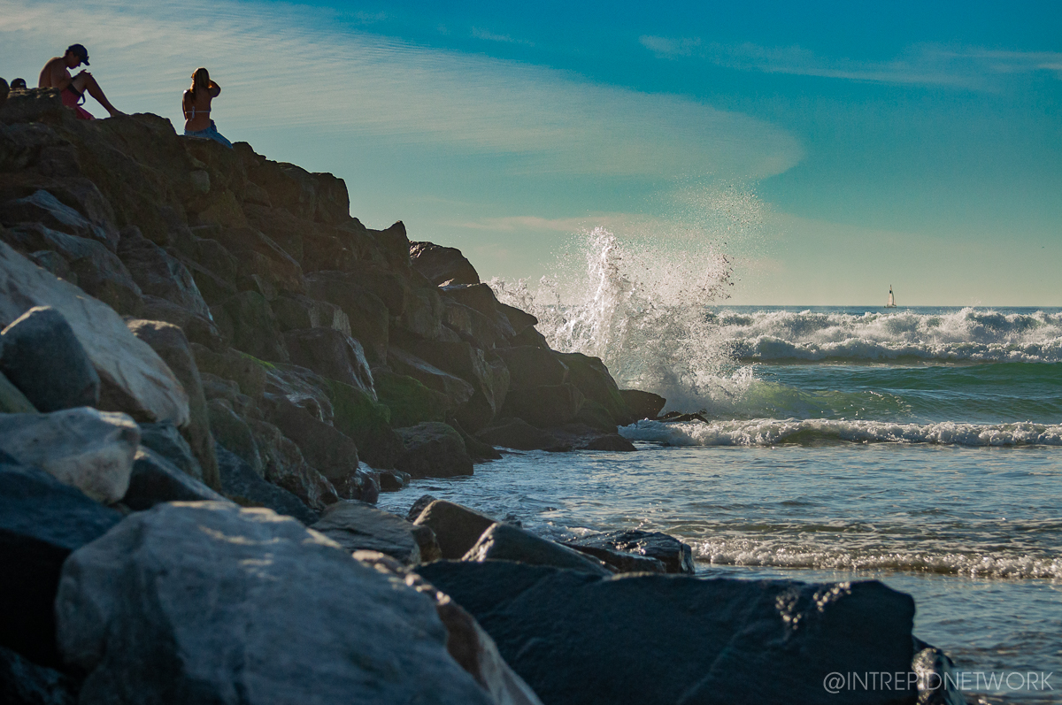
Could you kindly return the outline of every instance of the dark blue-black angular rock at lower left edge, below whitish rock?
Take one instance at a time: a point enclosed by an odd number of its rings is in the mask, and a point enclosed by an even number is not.
[[[38,664],[59,665],[54,608],[59,569],[71,551],[121,518],[47,472],[0,464],[0,594],[5,605],[0,644]],[[3,682],[0,677],[0,693]]]

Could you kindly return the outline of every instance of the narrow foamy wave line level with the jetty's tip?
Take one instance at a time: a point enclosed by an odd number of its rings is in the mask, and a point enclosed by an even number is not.
[[[1062,425],[894,424],[822,418],[662,423],[640,420],[619,429],[630,441],[669,446],[773,446],[822,442],[944,446],[1062,446]]]

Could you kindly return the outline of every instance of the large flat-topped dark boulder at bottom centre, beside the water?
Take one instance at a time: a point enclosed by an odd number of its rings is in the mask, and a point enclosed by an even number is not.
[[[544,702],[835,703],[830,673],[911,667],[914,601],[876,581],[599,578],[504,561],[418,574],[473,614]],[[905,685],[906,682],[905,682]],[[843,702],[913,703],[907,688]]]

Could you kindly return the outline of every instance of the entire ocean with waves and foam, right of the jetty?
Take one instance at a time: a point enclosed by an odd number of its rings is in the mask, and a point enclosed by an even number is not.
[[[431,493],[553,538],[663,531],[702,577],[880,580],[914,597],[915,635],[969,674],[969,702],[1062,702],[1062,309],[604,288],[539,306],[539,328],[706,423],[622,428],[633,453],[508,453],[380,506]]]

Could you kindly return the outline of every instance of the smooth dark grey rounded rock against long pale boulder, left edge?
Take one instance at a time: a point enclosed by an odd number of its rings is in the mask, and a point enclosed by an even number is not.
[[[100,376],[63,314],[37,306],[0,333],[0,372],[38,411],[95,407]]]

